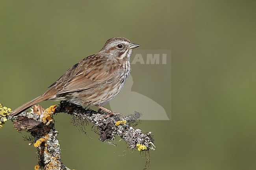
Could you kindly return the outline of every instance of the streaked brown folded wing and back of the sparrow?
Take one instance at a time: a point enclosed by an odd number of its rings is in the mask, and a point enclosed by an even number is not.
[[[115,80],[118,74],[118,61],[103,54],[89,56],[79,62],[74,75],[65,84],[56,84],[57,94],[81,91],[108,84]],[[65,74],[67,74],[67,71]],[[64,76],[64,75],[63,75]],[[64,76],[65,77],[65,76]]]

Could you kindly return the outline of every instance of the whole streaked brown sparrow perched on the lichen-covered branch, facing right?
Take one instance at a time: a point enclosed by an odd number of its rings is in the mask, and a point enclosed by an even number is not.
[[[132,49],[139,47],[123,37],[110,38],[96,54],[72,66],[45,93],[11,112],[19,115],[44,100],[69,101],[80,106],[98,106],[113,99],[123,88],[131,71]]]

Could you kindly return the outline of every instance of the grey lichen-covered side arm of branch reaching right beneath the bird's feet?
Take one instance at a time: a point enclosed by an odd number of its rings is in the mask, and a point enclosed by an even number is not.
[[[141,113],[135,112],[134,114],[122,117],[120,115],[114,115],[111,117],[104,118],[106,112],[102,110],[91,110],[89,108],[84,109],[77,107],[68,102],[61,102],[56,108],[55,113],[65,112],[73,116],[75,122],[91,122],[93,126],[98,128],[99,140],[111,140],[115,139],[115,135],[120,136],[124,141],[128,142],[129,148],[134,149],[138,146],[144,145],[145,149],[138,148],[138,150],[155,150],[153,144],[154,139],[151,132],[147,134],[141,133],[140,129],[134,129],[132,125],[136,125],[136,121],[141,117]],[[122,119],[121,119],[122,118]]]

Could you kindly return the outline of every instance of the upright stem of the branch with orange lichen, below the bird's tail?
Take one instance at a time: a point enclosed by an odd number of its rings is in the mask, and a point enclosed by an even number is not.
[[[56,105],[45,110],[40,105],[34,105],[32,112],[23,112],[13,120],[18,131],[26,130],[33,137],[38,159],[35,170],[70,170],[61,161],[58,131],[52,117],[55,108]]]

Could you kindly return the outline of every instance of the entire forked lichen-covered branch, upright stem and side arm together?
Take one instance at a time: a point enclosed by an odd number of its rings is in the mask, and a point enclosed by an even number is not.
[[[2,105],[1,105],[2,106]],[[3,107],[2,107],[3,108]],[[141,113],[135,112],[127,117],[122,115],[106,116],[108,113],[102,110],[91,110],[73,105],[69,102],[61,102],[58,106],[50,106],[44,109],[42,106],[33,106],[31,112],[22,112],[19,116],[10,117],[10,110],[4,108],[2,114],[4,119],[11,119],[18,131],[26,130],[33,137],[33,145],[37,149],[38,165],[36,170],[70,170],[61,161],[61,149],[57,139],[58,131],[54,127],[53,115],[56,113],[68,113],[72,115],[74,124],[86,124],[91,122],[96,132],[100,135],[100,141],[113,141],[120,136],[128,143],[132,150],[139,151],[155,150],[154,139],[151,132],[141,133],[141,130],[134,129]],[[1,111],[1,110],[0,110]],[[2,113],[2,112],[0,112]]]

